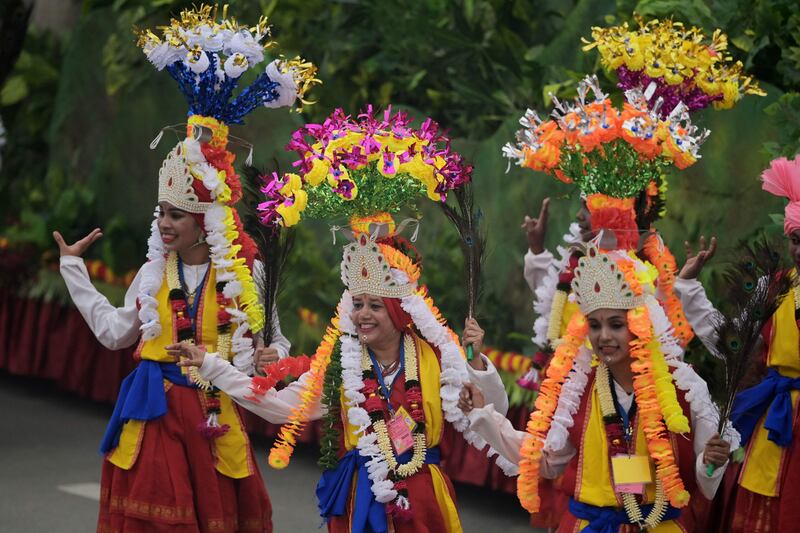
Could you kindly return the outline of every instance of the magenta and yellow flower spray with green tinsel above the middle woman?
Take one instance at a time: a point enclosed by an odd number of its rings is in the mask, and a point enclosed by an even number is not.
[[[418,196],[443,202],[472,173],[436,122],[426,119],[414,128],[406,113],[391,108],[382,119],[372,106],[356,119],[337,109],[322,124],[294,132],[287,149],[300,156],[298,172],[273,175],[262,189],[264,224],[292,226],[301,215],[395,213]]]

